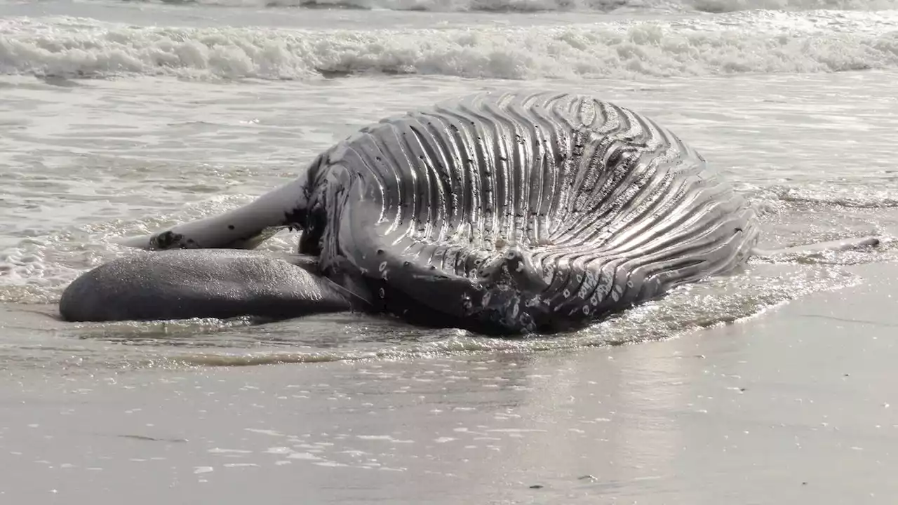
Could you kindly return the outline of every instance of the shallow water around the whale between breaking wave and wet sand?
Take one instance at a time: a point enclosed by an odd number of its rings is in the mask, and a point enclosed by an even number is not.
[[[37,346],[26,353],[30,363],[67,362],[69,356],[41,352],[40,346],[49,338],[59,341],[52,349],[66,348],[72,336],[78,338],[79,361],[114,368],[145,361],[158,366],[167,359],[206,364],[359,359],[665,338],[753,315],[810,292],[854,284],[858,279],[841,265],[891,261],[894,247],[887,241],[875,250],[776,264],[757,259],[735,277],[683,288],[663,302],[574,335],[532,341],[421,331],[351,315],[339,316],[339,323],[328,316],[264,326],[216,321],[63,324],[50,317],[61,289],[78,273],[127,253],[115,244],[116,237],[248,201],[294,177],[314,153],[356,128],[472,88],[566,86],[645,111],[699,146],[752,197],[762,211],[764,244],[851,235],[890,239],[898,224],[890,157],[898,115],[883,111],[894,102],[894,77],[867,72],[590,85],[417,76],[314,84],[144,77],[77,81],[61,90],[33,78],[7,77],[4,95],[11,107],[0,121],[16,126],[0,141],[0,151],[16,183],[4,200],[10,218],[3,225],[7,236],[0,258],[0,297],[39,304],[30,306],[44,317],[30,316],[16,332],[22,345]],[[379,99],[365,100],[373,89],[381,90]],[[832,105],[834,98],[838,106]],[[265,247],[293,248],[295,236],[278,235]],[[10,341],[17,339],[5,345]]]

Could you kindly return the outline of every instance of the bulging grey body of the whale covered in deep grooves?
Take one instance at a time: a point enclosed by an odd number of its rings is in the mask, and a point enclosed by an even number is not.
[[[757,236],[747,202],[678,137],[571,94],[383,120],[309,177],[325,275],[383,310],[480,331],[581,326],[734,268]]]

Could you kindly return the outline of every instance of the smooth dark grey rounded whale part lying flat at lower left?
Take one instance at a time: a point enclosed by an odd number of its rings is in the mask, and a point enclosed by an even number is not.
[[[84,273],[66,288],[66,321],[303,315],[365,310],[317,274],[316,261],[223,249],[139,253]]]

